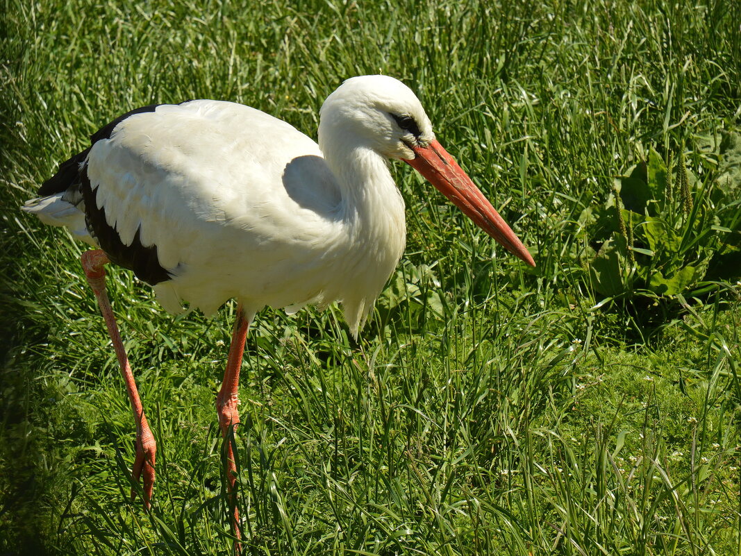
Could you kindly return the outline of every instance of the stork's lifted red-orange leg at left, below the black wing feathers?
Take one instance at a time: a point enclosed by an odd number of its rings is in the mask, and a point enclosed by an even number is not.
[[[157,445],[149,424],[147,424],[147,418],[142,408],[142,401],[139,399],[139,391],[136,389],[136,382],[134,382],[134,375],[131,372],[131,366],[126,357],[126,350],[121,341],[119,327],[116,325],[116,318],[113,316],[113,309],[111,309],[110,301],[108,301],[108,294],[105,289],[105,269],[103,266],[109,262],[107,255],[101,250],[86,251],[82,254],[82,268],[85,272],[85,278],[87,278],[87,283],[93,288],[93,293],[95,293],[98,299],[100,312],[103,314],[108,335],[110,335],[110,340],[113,342],[113,349],[116,350],[116,358],[119,360],[121,373],[124,375],[126,391],[129,395],[134,421],[136,422],[136,458],[131,468],[131,475],[137,482],[139,482],[139,478],[143,478],[144,509],[149,509],[150,500],[152,500],[152,489],[154,487],[154,458]],[[136,492],[132,488],[132,500],[135,495]]]

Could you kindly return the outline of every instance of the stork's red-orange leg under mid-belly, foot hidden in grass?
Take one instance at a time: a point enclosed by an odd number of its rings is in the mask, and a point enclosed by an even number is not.
[[[251,317],[245,315],[242,304],[237,307],[236,322],[232,333],[231,345],[229,346],[229,358],[227,368],[224,372],[224,381],[219,395],[216,396],[216,412],[219,413],[219,427],[224,438],[224,449],[226,458],[227,489],[229,491],[229,505],[233,509],[232,532],[237,538],[242,538],[239,530],[239,511],[236,508],[236,464],[234,463],[233,432],[239,424],[239,412],[237,412],[239,369],[242,366],[242,355],[245,352],[245,340],[247,330],[250,328]],[[239,553],[239,543],[234,543],[235,552]]]

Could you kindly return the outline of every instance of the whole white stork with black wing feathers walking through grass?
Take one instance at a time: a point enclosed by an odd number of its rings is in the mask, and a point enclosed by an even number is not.
[[[222,435],[239,423],[247,328],[262,307],[340,301],[356,335],[405,247],[404,201],[388,170],[419,171],[473,222],[528,264],[533,258],[435,139],[422,104],[394,78],[345,81],[322,106],[319,144],[254,108],[196,100],[116,118],[60,165],[23,210],[95,247],[82,255],[136,421],[133,477],[150,506],[156,443],[104,284],[109,261],[154,287],[165,309],[239,309],[222,388]],[[227,450],[232,526],[239,535]]]

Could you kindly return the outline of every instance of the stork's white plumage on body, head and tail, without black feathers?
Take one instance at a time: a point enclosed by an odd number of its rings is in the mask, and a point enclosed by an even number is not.
[[[400,129],[399,115],[416,129]],[[411,147],[433,140],[408,87],[365,76],[325,101],[319,145],[259,110],[198,100],[128,116],[83,165],[122,243],[139,231],[156,246],[171,279],[154,289],[169,311],[186,301],[210,315],[238,298],[251,317],[338,300],[356,335],[405,246],[388,158],[415,158]],[[64,195],[24,208],[96,245],[84,203]]]

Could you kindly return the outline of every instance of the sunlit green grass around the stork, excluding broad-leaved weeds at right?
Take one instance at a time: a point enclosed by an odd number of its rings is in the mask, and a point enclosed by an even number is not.
[[[0,554],[230,547],[213,401],[233,305],[173,318],[110,273],[159,442],[147,515],[84,246],[19,204],[123,110],[225,98],[313,135],[342,79],[381,72],[538,267],[394,165],[408,249],[359,343],[336,308],[250,332],[247,553],[741,555],[741,277],[602,304],[579,219],[651,148],[712,173],[702,138],[741,123],[736,4],[4,1]]]

